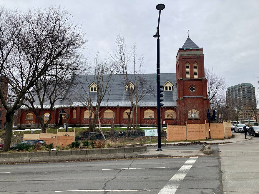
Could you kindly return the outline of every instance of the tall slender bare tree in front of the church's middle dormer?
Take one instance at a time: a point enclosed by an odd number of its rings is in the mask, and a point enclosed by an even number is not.
[[[137,128],[137,106],[138,103],[148,94],[152,93],[152,85],[148,83],[143,75],[143,59],[141,55],[137,58],[137,46],[133,44],[131,51],[128,52],[126,48],[125,39],[121,34],[115,39],[115,46],[117,49],[111,54],[113,63],[117,66],[119,74],[123,75],[123,86],[127,88],[127,98],[130,103],[130,111],[127,112],[127,133],[131,129]],[[136,121],[134,118],[134,111],[136,109]],[[136,124],[136,125],[135,125]]]

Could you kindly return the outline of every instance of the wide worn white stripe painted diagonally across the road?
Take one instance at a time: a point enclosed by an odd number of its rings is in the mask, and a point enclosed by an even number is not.
[[[184,165],[182,165],[182,167],[177,171],[175,175],[172,176],[167,185],[165,185],[158,194],[175,194],[177,188],[180,185],[180,182],[185,178],[185,175],[195,163],[197,158],[198,157],[190,157],[189,160],[187,160]]]

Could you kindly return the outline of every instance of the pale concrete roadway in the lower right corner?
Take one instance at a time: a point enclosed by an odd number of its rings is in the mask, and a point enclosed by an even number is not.
[[[224,194],[259,193],[259,137],[250,137],[219,145]]]

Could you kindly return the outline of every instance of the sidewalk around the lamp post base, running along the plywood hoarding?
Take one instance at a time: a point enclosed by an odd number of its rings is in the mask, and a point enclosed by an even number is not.
[[[243,133],[233,133],[235,135],[234,138],[230,139],[223,139],[223,140],[211,140],[211,141],[201,141],[201,142],[207,142],[207,143],[232,143],[232,142],[241,142],[241,141],[247,141],[251,138],[247,136],[248,139],[245,139],[245,136]],[[166,144],[177,144],[177,143],[190,143],[190,142],[176,142],[176,143],[166,143]],[[150,143],[145,145],[154,145],[157,146],[156,143]],[[200,145],[200,148],[202,145]],[[170,149],[170,146],[162,146],[163,151],[156,151],[156,149],[148,149],[146,153],[138,154],[136,155],[137,158],[148,158],[148,157],[177,157],[177,156],[197,156],[197,155],[207,155],[203,154],[200,151],[200,148],[197,150],[176,150],[176,149]]]

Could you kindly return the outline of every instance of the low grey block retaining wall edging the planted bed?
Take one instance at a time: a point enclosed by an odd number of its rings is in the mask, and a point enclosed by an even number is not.
[[[116,159],[116,158],[136,158],[137,154],[147,152],[147,145],[126,147],[126,148],[103,148],[84,150],[57,150],[39,152],[14,152],[1,153],[0,163],[12,162],[47,162],[47,161],[67,161],[86,159]]]

